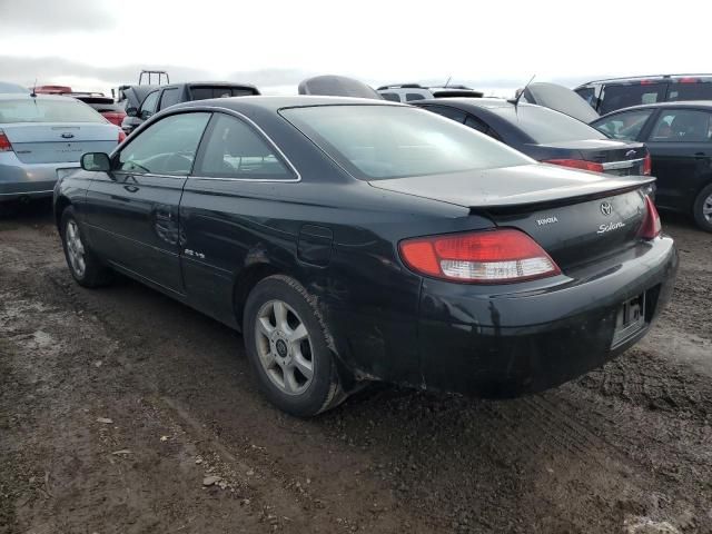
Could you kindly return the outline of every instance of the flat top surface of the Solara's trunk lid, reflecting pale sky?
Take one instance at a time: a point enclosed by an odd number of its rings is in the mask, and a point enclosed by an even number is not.
[[[555,165],[532,164],[447,175],[379,179],[369,184],[378,189],[467,208],[503,208],[605,196],[654,180],[646,176],[614,177],[570,170]]]

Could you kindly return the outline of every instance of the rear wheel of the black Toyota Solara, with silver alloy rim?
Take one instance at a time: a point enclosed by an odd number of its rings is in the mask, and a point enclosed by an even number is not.
[[[310,417],[344,399],[325,326],[293,278],[269,276],[255,286],[243,335],[263,393],[281,411]]]

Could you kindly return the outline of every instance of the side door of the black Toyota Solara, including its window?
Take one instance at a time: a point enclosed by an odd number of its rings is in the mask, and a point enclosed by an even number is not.
[[[112,157],[87,192],[87,225],[100,256],[146,280],[182,293],[178,206],[209,112],[164,117]]]

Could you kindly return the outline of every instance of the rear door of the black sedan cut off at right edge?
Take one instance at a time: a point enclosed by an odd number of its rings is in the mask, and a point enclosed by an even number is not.
[[[656,204],[689,210],[712,174],[712,113],[662,108],[644,132],[657,178]]]

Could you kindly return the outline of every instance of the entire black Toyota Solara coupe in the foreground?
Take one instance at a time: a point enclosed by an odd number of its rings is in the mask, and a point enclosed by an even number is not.
[[[87,287],[128,275],[243,332],[309,416],[368,380],[513,396],[650,329],[678,267],[650,177],[535,162],[394,102],[178,105],[55,189]]]

